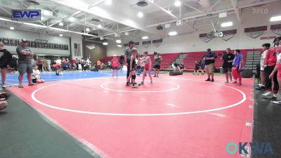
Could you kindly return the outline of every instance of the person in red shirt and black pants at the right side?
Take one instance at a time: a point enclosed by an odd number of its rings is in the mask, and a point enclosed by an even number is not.
[[[281,37],[277,37],[274,39],[274,47],[268,50],[266,54],[266,59],[264,60],[264,75],[266,78],[266,93],[261,95],[263,98],[276,98],[276,93],[279,89],[279,84],[277,81],[277,73],[273,75],[273,81],[269,78],[270,74],[273,72],[274,67],[277,61],[277,46],[279,45]],[[274,82],[274,86],[272,88],[272,83]]]

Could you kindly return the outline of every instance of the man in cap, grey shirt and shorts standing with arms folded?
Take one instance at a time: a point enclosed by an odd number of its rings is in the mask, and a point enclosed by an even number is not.
[[[16,48],[16,51],[18,53],[18,72],[20,73],[18,76],[18,81],[20,82],[18,87],[23,88],[22,79],[25,73],[27,73],[28,86],[34,86],[35,84],[32,83],[31,79],[31,74],[33,72],[31,59],[34,53],[32,53],[30,48],[27,48],[27,41],[25,41],[25,39],[20,40],[20,46]]]

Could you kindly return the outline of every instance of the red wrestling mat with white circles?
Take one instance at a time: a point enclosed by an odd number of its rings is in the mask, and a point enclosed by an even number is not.
[[[190,74],[153,79],[139,88],[122,77],[9,89],[102,157],[241,157],[226,145],[251,141],[253,79],[242,86]]]

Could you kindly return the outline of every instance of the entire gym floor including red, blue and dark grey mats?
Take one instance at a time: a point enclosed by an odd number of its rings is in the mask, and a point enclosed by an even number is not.
[[[46,73],[46,83],[25,88],[15,86],[17,74],[8,75],[13,94],[0,112],[0,156],[242,157],[228,154],[226,145],[251,142],[253,124],[259,133],[254,140],[262,140],[268,119],[253,121],[264,119],[254,117],[254,110],[264,115],[262,105],[254,106],[254,79],[234,86],[221,75],[211,83],[206,75],[161,74],[152,86],[147,77],[145,85],[131,88],[124,86],[125,74],[111,79],[111,72]],[[272,117],[280,109],[273,108],[266,111]]]

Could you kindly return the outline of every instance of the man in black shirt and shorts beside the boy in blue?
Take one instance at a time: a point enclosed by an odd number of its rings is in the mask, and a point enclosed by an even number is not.
[[[233,77],[231,75],[231,69],[233,68],[233,60],[235,55],[231,53],[230,48],[226,48],[226,53],[223,54],[223,73],[226,74],[226,83],[228,83],[228,79],[230,82],[233,81]]]

